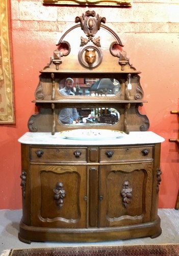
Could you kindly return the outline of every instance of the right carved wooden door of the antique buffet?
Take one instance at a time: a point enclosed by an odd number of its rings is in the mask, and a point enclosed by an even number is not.
[[[152,162],[100,166],[99,227],[150,221],[152,170]]]

